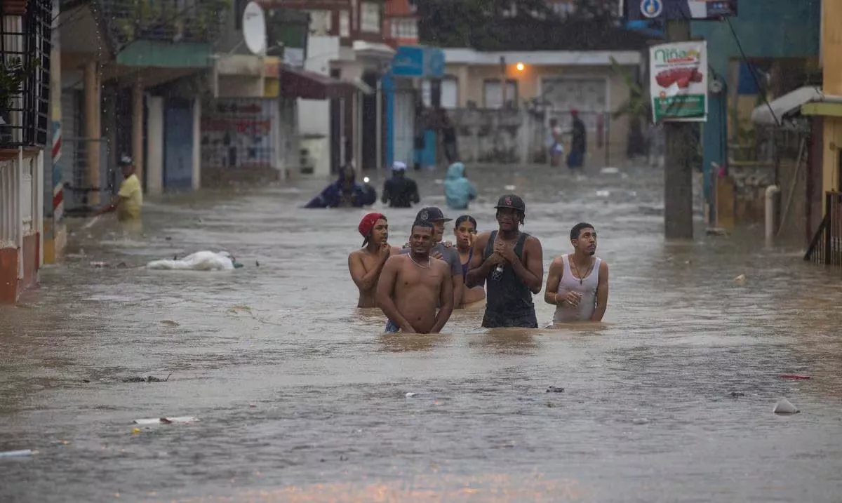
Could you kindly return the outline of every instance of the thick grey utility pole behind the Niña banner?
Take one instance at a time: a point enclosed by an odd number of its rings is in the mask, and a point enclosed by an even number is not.
[[[690,21],[667,22],[667,40],[690,40]],[[707,71],[706,68],[702,71]],[[693,122],[665,121],[667,151],[663,168],[663,235],[667,239],[693,239],[693,150],[697,139]]]

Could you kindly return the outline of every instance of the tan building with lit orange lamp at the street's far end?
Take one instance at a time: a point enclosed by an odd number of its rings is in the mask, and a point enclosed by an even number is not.
[[[576,109],[588,129],[589,164],[625,160],[629,120],[611,119],[611,114],[626,103],[629,89],[623,77],[612,71],[612,60],[637,71],[642,55],[637,50],[445,49],[441,104],[445,109],[459,109],[450,114],[461,126],[461,156],[473,161],[514,156],[516,159],[510,159],[514,161],[530,155],[530,161],[539,160],[545,150],[549,120],[556,118],[562,128],[568,128],[570,111]],[[503,113],[501,108],[505,109]],[[509,120],[499,119],[509,115]],[[501,126],[497,129],[507,132],[495,132],[483,140],[466,127],[493,120]],[[528,130],[515,132],[514,122],[520,129],[527,124]],[[488,127],[478,129],[488,131]],[[473,137],[463,140],[465,136]]]

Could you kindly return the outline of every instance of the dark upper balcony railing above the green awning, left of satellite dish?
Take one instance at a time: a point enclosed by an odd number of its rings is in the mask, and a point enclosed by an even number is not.
[[[99,0],[115,50],[136,40],[211,42],[225,27],[231,0]]]

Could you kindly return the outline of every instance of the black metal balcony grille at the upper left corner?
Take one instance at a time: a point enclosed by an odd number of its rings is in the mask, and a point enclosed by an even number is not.
[[[51,36],[51,0],[0,2],[0,148],[47,143]]]

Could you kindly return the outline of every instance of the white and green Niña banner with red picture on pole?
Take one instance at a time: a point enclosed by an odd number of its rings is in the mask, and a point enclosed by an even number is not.
[[[656,123],[707,120],[707,42],[672,42],[649,48],[649,96]]]

